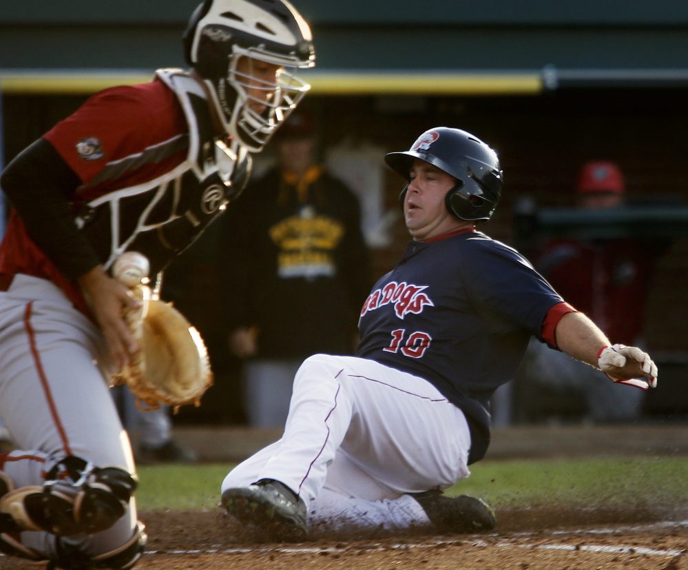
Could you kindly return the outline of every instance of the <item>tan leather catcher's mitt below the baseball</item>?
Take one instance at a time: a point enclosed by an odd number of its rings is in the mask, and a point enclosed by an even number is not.
[[[174,411],[200,405],[200,397],[213,383],[200,334],[172,305],[151,298],[147,285],[132,287],[131,293],[141,306],[125,312],[125,320],[138,350],[116,381],[127,384],[140,409],[158,409],[161,403]]]

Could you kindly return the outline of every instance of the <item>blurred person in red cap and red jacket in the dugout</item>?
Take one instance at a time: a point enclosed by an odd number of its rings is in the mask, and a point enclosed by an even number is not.
[[[608,161],[583,165],[576,202],[583,210],[610,210],[625,205],[621,169]],[[589,316],[618,343],[643,345],[643,307],[663,248],[656,241],[632,238],[552,238],[533,263],[563,298]],[[628,307],[635,307],[629,311]],[[573,391],[595,423],[624,422],[642,413],[644,393],[605,382],[603,372],[531,342],[521,378],[532,387]]]

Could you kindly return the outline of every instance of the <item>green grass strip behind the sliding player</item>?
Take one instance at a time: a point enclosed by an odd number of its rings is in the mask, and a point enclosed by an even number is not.
[[[139,509],[215,509],[230,464],[156,465],[138,470]],[[688,505],[688,458],[483,461],[446,491],[495,508],[556,504]]]

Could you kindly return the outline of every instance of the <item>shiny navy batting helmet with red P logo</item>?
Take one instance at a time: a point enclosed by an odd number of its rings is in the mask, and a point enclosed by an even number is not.
[[[410,150],[385,156],[385,162],[407,181],[413,159],[424,160],[457,179],[445,197],[447,210],[457,218],[490,219],[501,196],[502,172],[497,153],[486,143],[470,132],[437,127],[421,134]],[[406,188],[399,196],[402,204]]]

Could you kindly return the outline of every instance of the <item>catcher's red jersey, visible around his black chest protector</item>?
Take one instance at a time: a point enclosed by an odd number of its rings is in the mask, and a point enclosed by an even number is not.
[[[115,179],[90,184],[104,167],[136,159],[136,155],[187,130],[176,94],[165,83],[156,80],[96,93],[74,114],[43,135],[43,139],[55,147],[81,179],[82,186],[74,196],[76,212],[82,203],[172,170],[185,159],[187,150],[180,150],[158,163],[126,170]],[[74,306],[88,313],[79,286],[67,281],[33,243],[14,211],[0,245],[0,272],[48,279],[67,294]]]

